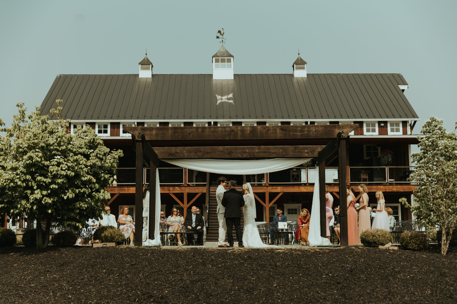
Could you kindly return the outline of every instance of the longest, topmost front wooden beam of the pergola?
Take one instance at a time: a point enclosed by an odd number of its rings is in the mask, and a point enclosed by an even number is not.
[[[137,139],[154,141],[212,141],[223,140],[280,140],[280,139],[336,139],[349,136],[358,124],[231,126],[227,127],[124,127]]]

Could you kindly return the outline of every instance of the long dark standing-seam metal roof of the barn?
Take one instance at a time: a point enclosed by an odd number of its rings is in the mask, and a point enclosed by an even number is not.
[[[63,99],[74,120],[418,119],[401,74],[58,75],[42,113]]]

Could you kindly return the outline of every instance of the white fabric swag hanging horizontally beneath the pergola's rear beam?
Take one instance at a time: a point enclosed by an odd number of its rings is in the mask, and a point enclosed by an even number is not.
[[[274,158],[269,160],[164,160],[183,168],[218,174],[262,174],[286,170],[311,158]]]

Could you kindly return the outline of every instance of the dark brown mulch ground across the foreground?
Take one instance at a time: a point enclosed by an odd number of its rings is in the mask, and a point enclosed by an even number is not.
[[[457,252],[0,248],[1,303],[456,303]]]

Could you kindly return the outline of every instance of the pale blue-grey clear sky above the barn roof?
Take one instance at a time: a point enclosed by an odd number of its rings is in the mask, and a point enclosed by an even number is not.
[[[39,106],[58,74],[401,73],[421,118],[457,120],[457,1],[1,1],[0,118]]]

